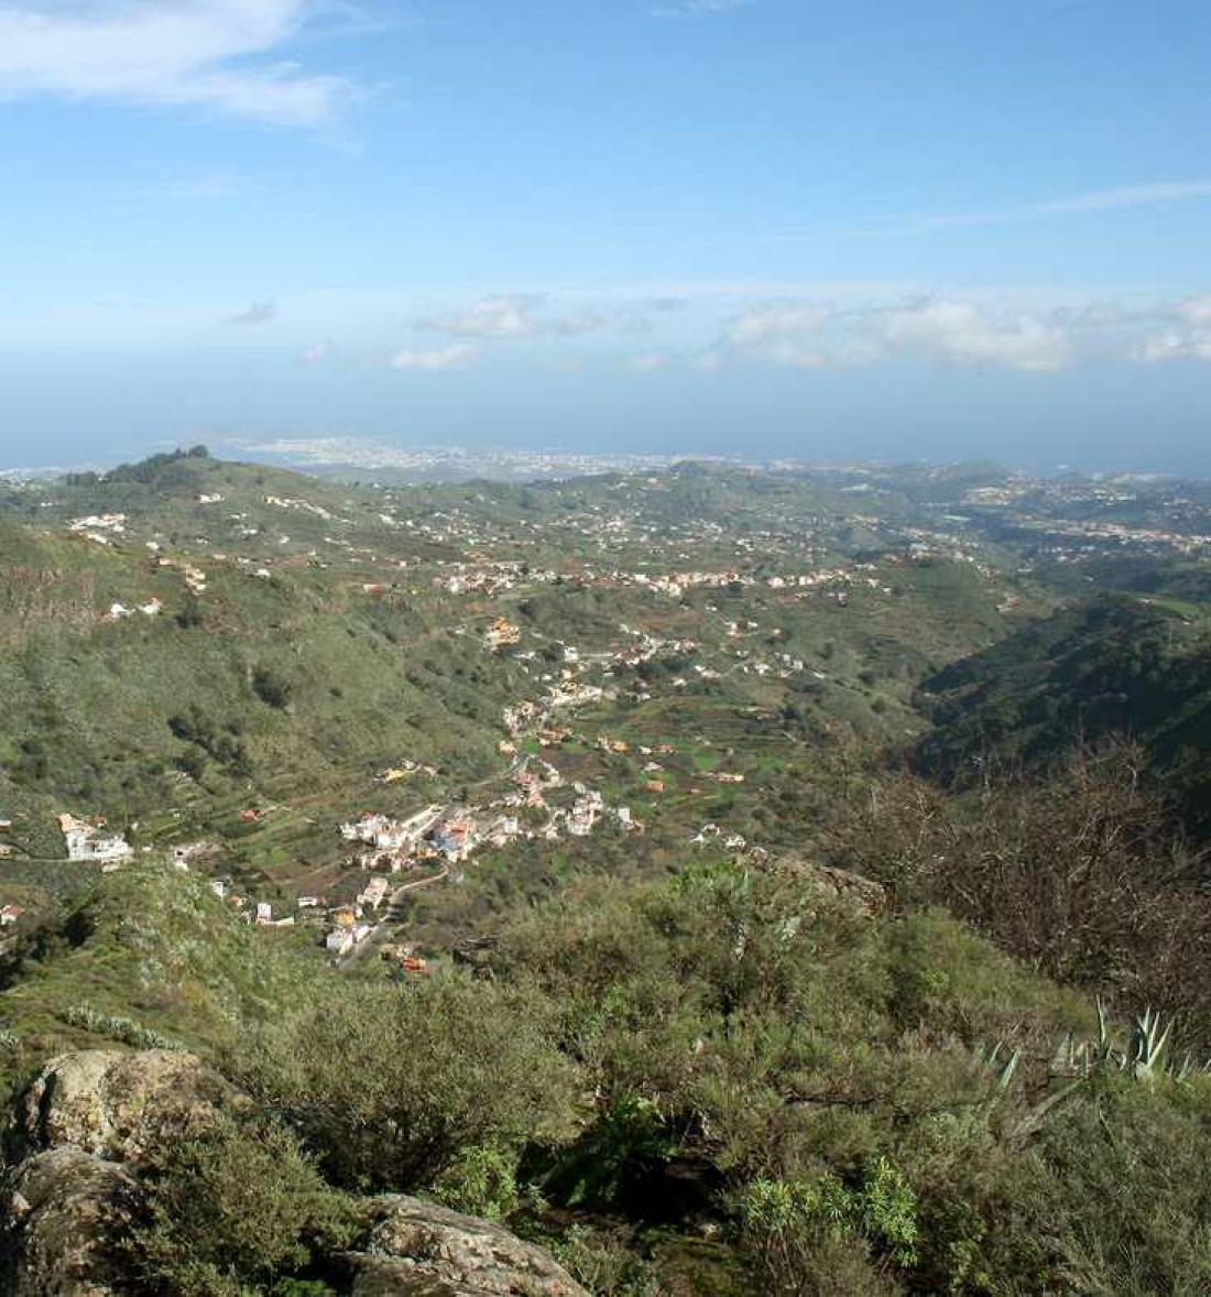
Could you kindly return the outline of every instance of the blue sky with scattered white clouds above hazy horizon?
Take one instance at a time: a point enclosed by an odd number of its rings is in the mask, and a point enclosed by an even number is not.
[[[1206,0],[0,0],[0,467],[1211,476]]]

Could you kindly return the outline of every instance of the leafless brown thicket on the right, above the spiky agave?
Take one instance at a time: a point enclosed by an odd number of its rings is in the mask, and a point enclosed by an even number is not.
[[[959,799],[892,777],[838,822],[835,856],[900,907],[941,903],[1033,969],[1186,1010],[1211,1039],[1208,857],[1175,837],[1144,773],[1138,748],[1111,742],[1042,781],[988,774]]]

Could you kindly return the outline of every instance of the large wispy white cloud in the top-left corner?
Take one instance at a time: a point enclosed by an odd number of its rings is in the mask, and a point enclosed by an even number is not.
[[[309,0],[0,0],[0,97],[201,105],[320,126],[351,87],[270,61]]]

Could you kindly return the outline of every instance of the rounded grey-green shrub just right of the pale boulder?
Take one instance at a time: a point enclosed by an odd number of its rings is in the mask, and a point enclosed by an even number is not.
[[[415,1189],[468,1147],[567,1137],[576,1071],[550,1017],[537,996],[463,975],[342,982],[250,1034],[232,1065],[336,1183]]]

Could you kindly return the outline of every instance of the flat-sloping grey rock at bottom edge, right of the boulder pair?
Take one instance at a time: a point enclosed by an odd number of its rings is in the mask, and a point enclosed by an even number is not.
[[[412,1197],[376,1204],[350,1259],[354,1297],[587,1297],[551,1254],[498,1224]]]

